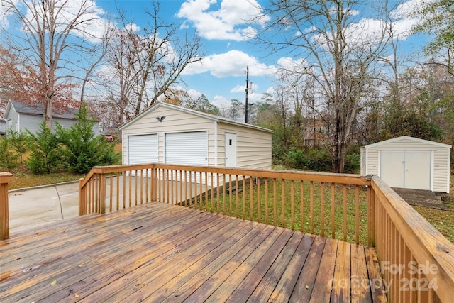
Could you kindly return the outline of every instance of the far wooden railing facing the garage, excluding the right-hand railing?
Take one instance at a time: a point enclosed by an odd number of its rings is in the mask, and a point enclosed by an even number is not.
[[[79,181],[79,214],[157,201],[367,243],[373,230],[367,226],[369,184],[359,175],[329,173],[158,164],[94,167]]]

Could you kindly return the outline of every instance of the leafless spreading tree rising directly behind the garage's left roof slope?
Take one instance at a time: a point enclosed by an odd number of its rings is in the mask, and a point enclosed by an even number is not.
[[[121,119],[131,119],[153,105],[177,83],[188,65],[201,60],[198,35],[179,35],[177,25],[160,18],[157,2],[145,13],[148,27],[138,30],[133,20],[119,11],[123,29],[116,35],[116,47],[110,54],[117,91],[110,95],[120,108]]]

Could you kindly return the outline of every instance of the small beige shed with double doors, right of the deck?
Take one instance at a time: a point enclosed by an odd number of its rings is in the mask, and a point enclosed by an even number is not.
[[[361,148],[361,175],[378,175],[390,187],[449,192],[450,145],[409,136]]]

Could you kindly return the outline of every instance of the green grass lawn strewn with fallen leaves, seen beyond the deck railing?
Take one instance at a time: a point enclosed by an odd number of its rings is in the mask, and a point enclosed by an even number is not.
[[[118,148],[118,150],[117,150]],[[116,150],[121,150],[121,146],[118,145]],[[84,175],[74,175],[69,172],[55,172],[52,174],[46,175],[33,175],[27,170],[21,169],[13,172],[13,181],[9,184],[9,189],[19,189],[24,187],[35,187],[45,184],[55,184],[60,182],[69,182],[77,181],[79,178],[84,177]],[[268,222],[269,224],[275,224],[277,226],[283,226],[282,222],[282,186],[277,182],[276,188],[276,197],[273,195],[272,182],[268,184],[268,203],[265,203],[265,184],[261,184],[260,187],[260,199],[258,199],[257,185],[253,184],[252,190],[252,199],[249,183],[246,184],[245,190],[238,192],[238,204],[237,204],[237,195],[226,194],[224,197],[222,192],[219,196],[219,209],[222,214],[227,214],[231,216],[238,216],[245,219],[258,220],[260,214],[261,222]],[[314,183],[314,206],[311,210],[310,203],[310,192],[309,182],[304,182],[303,187],[303,230],[306,232],[314,231],[316,234],[321,234],[322,226],[323,231],[326,236],[331,236],[331,206],[334,206],[334,219],[335,219],[335,238],[343,238],[343,189],[341,186],[336,185],[336,194],[334,204],[331,204],[331,187],[326,184],[324,189],[324,204],[323,209],[321,207],[321,188],[319,183]],[[299,197],[301,197],[301,192],[299,189],[299,184],[294,184],[294,212],[292,216],[292,205],[291,205],[291,194],[290,194],[289,182],[285,184],[284,187],[284,221],[287,228],[300,229],[301,228],[301,217],[299,216]],[[243,205],[243,195],[245,197],[245,203]],[[360,224],[360,234],[359,239],[360,243],[367,244],[367,204],[365,203],[365,190],[360,189],[359,191],[360,204],[359,206],[359,221]],[[356,225],[356,205],[355,205],[355,189],[354,187],[348,187],[347,191],[347,230],[348,236],[347,241],[355,242],[355,225]],[[204,197],[205,198],[205,197]],[[273,201],[276,199],[276,209],[273,207]],[[414,206],[414,209],[421,214],[429,223],[435,226],[438,231],[440,231],[443,236],[448,238],[449,241],[454,243],[454,177],[451,177],[451,191],[448,196],[450,202],[447,203],[450,208],[448,211],[442,211],[438,209],[431,209],[423,206]],[[253,212],[251,214],[251,201],[254,205]],[[260,203],[258,202],[260,201]],[[204,209],[216,209],[217,197],[214,197],[211,201],[211,197],[207,201],[203,201]],[[238,206],[237,206],[238,205]],[[260,206],[260,207],[259,207]],[[199,206],[198,206],[199,207]],[[258,211],[260,209],[260,212]],[[314,220],[311,222],[310,214],[313,213]],[[323,216],[321,212],[323,211]],[[276,214],[275,214],[276,213]],[[292,220],[293,217],[293,220]],[[323,218],[323,220],[322,220]],[[322,225],[323,221],[323,225]],[[293,222],[293,226],[292,226]]]

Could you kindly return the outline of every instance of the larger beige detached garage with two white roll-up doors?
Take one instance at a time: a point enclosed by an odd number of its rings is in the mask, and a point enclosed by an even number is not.
[[[270,169],[272,131],[157,102],[120,127],[123,164]]]

